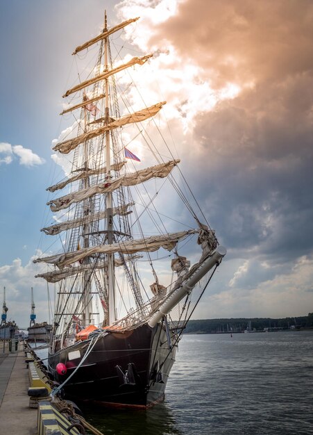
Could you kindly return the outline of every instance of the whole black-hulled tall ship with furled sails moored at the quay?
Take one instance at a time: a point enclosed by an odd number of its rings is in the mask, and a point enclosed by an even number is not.
[[[73,121],[53,146],[71,170],[47,189],[56,220],[42,229],[62,246],[35,259],[47,268],[36,277],[58,289],[53,394],[117,407],[164,399],[185,326],[226,254],[164,140],[166,101],[145,104],[130,76],[151,74],[153,55],[121,56],[116,43],[137,19],[108,27],[105,14],[74,50],[85,66],[61,113]]]

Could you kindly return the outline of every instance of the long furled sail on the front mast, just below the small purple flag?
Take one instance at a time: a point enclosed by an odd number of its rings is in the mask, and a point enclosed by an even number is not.
[[[144,181],[148,181],[152,178],[164,178],[169,175],[174,166],[176,166],[179,162],[180,160],[173,160],[166,163],[161,163],[160,165],[146,167],[146,169],[122,175],[117,179],[108,180],[105,181],[105,183],[96,184],[96,186],[91,186],[90,188],[78,190],[77,192],[71,192],[64,197],[52,199],[46,204],[50,206],[51,211],[59,211],[63,208],[69,207],[74,202],[83,201],[83,199],[90,198],[97,193],[112,192],[121,186],[135,186],[136,184],[143,183]]]

